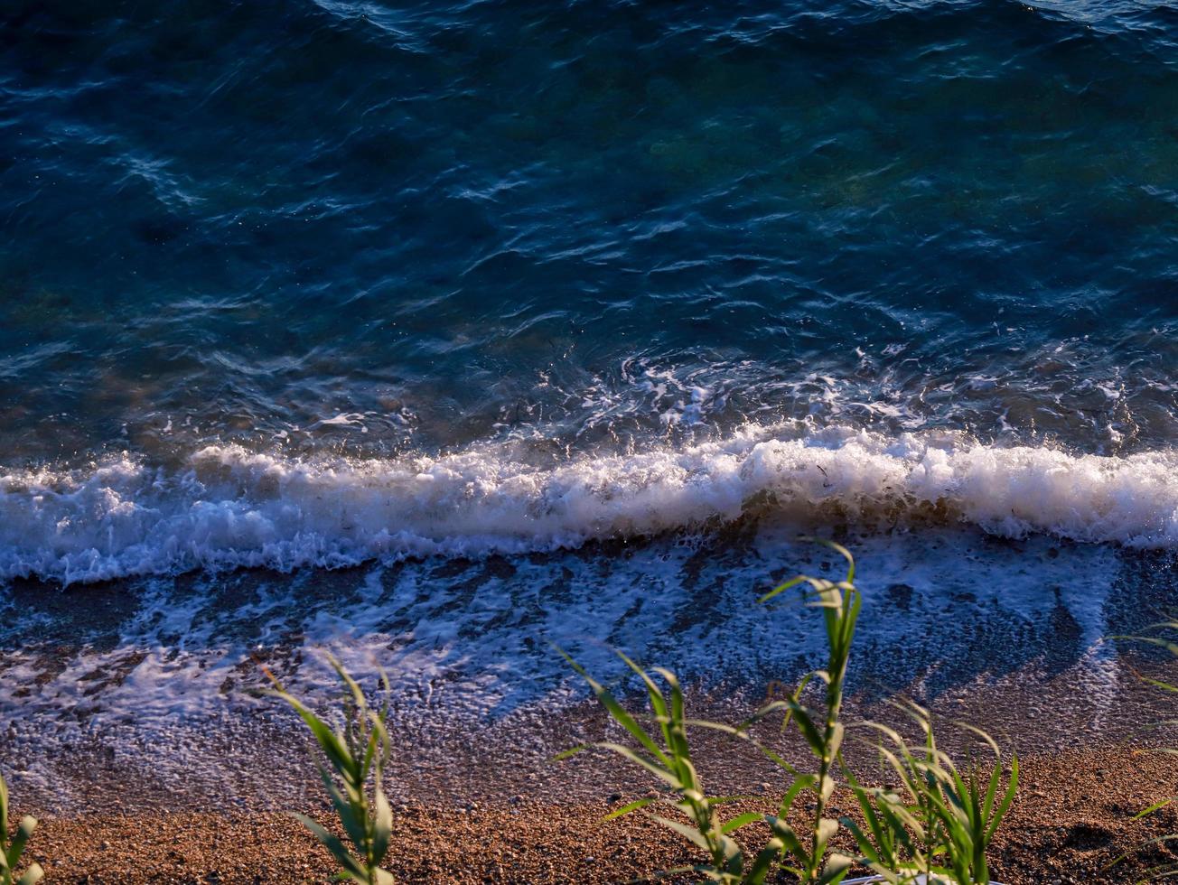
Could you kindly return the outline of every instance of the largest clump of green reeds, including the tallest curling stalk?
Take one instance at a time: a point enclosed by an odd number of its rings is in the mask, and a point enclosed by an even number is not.
[[[836,885],[854,864],[874,870],[887,881],[988,883],[986,863],[994,832],[1005,817],[1018,788],[1018,759],[1011,764],[1005,790],[1001,788],[1005,766],[994,741],[984,732],[965,726],[981,738],[994,753],[995,761],[985,772],[969,765],[962,773],[948,754],[938,748],[932,720],[915,704],[904,708],[920,725],[925,740],[914,748],[899,732],[878,724],[865,724],[884,737],[875,746],[891,768],[900,777],[902,790],[867,788],[859,784],[842,757],[846,726],[842,704],[847,667],[851,660],[855,625],[861,607],[861,595],[855,587],[855,564],[851,553],[829,541],[820,541],[847,560],[843,580],[799,575],[761,598],[768,601],[781,593],[802,587],[803,601],[822,613],[827,646],[826,666],[807,674],[796,690],[783,700],[774,700],[757,710],[737,726],[688,719],[684,714],[683,693],[675,674],[668,670],[654,672],[669,688],[669,697],[637,664],[621,656],[647,687],[650,716],[659,726],[659,740],[643,727],[638,717],[629,713],[617,699],[590,677],[568,654],[561,653],[589,683],[597,700],[609,716],[621,725],[638,746],[630,747],[611,741],[574,747],[558,758],[571,756],[587,746],[614,752],[643,767],[670,788],[663,800],[640,799],[611,812],[607,819],[641,811],[663,826],[684,837],[709,856],[707,864],[668,870],[657,878],[682,872],[702,873],[720,883],[760,885],[770,873],[783,871],[807,885]],[[812,708],[803,704],[807,687],[818,680],[822,684],[822,704]],[[814,770],[802,771],[769,747],[761,746],[749,734],[749,728],[766,717],[782,712],[782,730],[795,727],[814,757]],[[691,760],[688,727],[707,727],[726,732],[741,740],[753,741],[786,774],[785,791],[775,814],[748,812],[722,820],[722,806],[739,797],[709,796]],[[843,777],[859,800],[865,825],[848,818],[828,817],[836,777]],[[813,797],[812,814],[807,827],[796,830],[789,823],[798,800]],[[680,818],[653,814],[648,807],[656,801],[669,805]],[[840,824],[853,836],[860,856],[852,858],[830,850]],[[737,841],[737,834],[748,826],[763,825],[769,840],[765,849],[750,857]]]

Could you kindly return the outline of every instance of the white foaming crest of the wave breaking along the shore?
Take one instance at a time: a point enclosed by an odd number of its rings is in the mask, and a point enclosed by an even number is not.
[[[925,512],[1004,535],[1178,546],[1178,453],[993,447],[951,433],[796,437],[749,426],[673,450],[538,464],[518,447],[294,459],[213,446],[179,468],[125,455],[0,475],[0,579],[571,547],[734,519],[894,523]]]

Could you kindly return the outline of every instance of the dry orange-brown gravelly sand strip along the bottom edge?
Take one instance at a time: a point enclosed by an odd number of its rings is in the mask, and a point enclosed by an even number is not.
[[[992,851],[1010,885],[1134,880],[1178,859],[1164,846],[1134,846],[1178,831],[1178,814],[1131,817],[1178,783],[1178,759],[1124,751],[1024,759],[1024,790]],[[608,798],[608,797],[607,797]],[[840,807],[849,797],[838,796]],[[620,803],[613,804],[616,807]],[[641,817],[602,823],[597,801],[408,805],[397,810],[390,870],[413,883],[620,883],[690,863],[681,841]],[[742,810],[769,810],[746,803]],[[306,809],[324,823],[322,804]],[[105,813],[49,818],[33,856],[51,883],[326,883],[331,858],[278,813]],[[687,879],[684,879],[687,880]]]

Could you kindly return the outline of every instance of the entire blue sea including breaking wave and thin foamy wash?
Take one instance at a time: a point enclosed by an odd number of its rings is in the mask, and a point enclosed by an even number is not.
[[[841,574],[800,535],[859,560],[856,691],[1066,677],[1099,730],[1176,441],[1170,4],[0,8],[0,759],[45,804],[84,747],[174,781],[297,728],[258,665],[327,698],[324,652],[423,730],[583,701],[554,645],[755,697],[821,660],[756,603]]]

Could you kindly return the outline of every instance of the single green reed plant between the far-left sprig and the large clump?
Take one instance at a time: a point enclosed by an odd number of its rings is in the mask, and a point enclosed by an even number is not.
[[[291,817],[310,830],[339,863],[342,870],[337,879],[392,885],[392,873],[380,867],[392,836],[392,809],[380,787],[380,771],[391,748],[386,725],[389,708],[385,705],[372,710],[364,691],[343,665],[330,654],[326,659],[344,686],[343,725],[335,728],[285,691],[273,673],[264,670],[274,685],[271,693],[294,708],[327,760],[327,764],[317,760],[319,777],[352,847],[305,814],[292,812]],[[389,680],[383,672],[380,680],[388,692]]]

